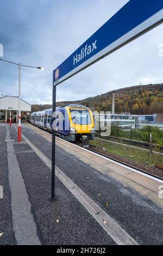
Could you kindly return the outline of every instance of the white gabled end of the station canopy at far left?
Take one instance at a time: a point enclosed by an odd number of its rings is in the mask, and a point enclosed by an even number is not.
[[[0,109],[18,111],[18,97],[16,96],[4,96],[0,98]],[[31,112],[31,105],[21,99],[21,111]]]

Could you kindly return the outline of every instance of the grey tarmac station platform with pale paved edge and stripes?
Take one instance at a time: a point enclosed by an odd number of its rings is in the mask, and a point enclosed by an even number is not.
[[[163,182],[30,124],[0,124],[0,245],[161,245]]]

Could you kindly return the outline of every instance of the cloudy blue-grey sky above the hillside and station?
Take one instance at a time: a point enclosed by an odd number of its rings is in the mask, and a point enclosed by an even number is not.
[[[52,103],[52,71],[128,0],[1,0],[0,43],[4,58],[23,68],[22,99]],[[57,87],[57,100],[82,100],[113,89],[163,83],[163,25]],[[17,66],[0,61],[0,94],[18,95]]]

